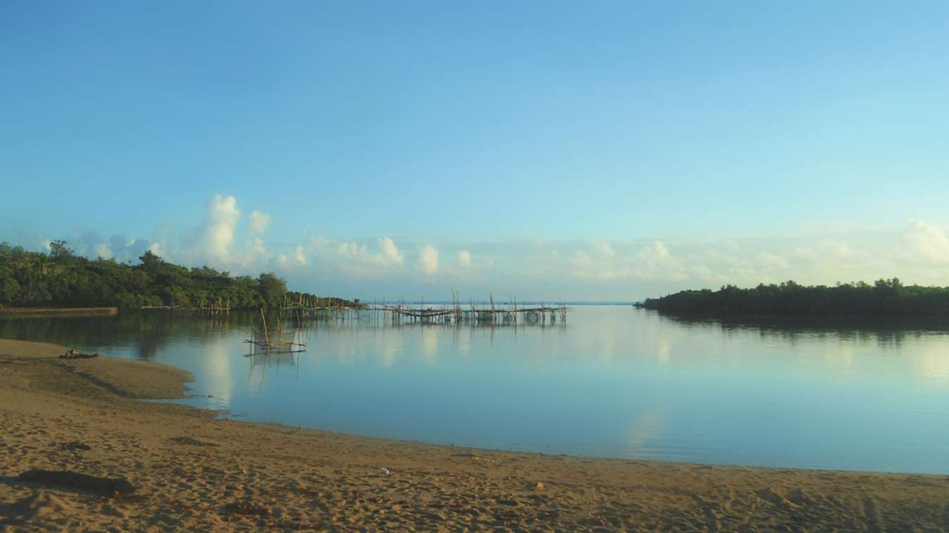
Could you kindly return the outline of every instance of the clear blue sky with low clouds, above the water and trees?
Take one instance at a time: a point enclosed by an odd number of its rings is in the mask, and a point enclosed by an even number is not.
[[[0,240],[158,247],[369,298],[949,283],[947,19],[944,2],[4,2]],[[822,246],[863,259],[795,262]]]

